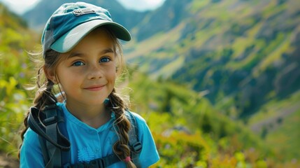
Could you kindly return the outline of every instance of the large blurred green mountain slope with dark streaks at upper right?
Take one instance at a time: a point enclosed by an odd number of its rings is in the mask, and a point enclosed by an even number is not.
[[[176,8],[167,12],[171,2],[160,15],[175,15]],[[299,89],[300,6],[294,1],[188,2],[175,27],[128,45],[130,62],[154,77],[207,90],[220,107],[235,101],[236,112],[225,111],[234,118]]]

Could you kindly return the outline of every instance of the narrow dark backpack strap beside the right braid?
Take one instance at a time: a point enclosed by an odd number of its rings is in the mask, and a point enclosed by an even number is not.
[[[138,157],[142,150],[142,144],[138,141],[138,124],[136,123],[136,118],[130,111],[126,111],[126,116],[131,124],[131,128],[128,132],[129,146],[131,148],[131,160],[134,162],[136,167],[140,167]]]

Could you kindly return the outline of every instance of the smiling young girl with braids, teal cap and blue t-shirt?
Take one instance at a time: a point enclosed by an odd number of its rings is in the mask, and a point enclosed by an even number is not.
[[[107,159],[103,167],[149,167],[159,160],[150,130],[136,113],[132,114],[142,148],[137,162],[131,158],[127,105],[115,91],[124,64],[117,38],[129,41],[131,36],[111,20],[108,10],[83,2],[63,4],[43,31],[44,64],[38,71],[34,107],[41,113],[53,104],[62,109],[71,144],[69,167],[87,166],[113,153],[117,160]],[[63,102],[57,101],[55,90]],[[49,167],[38,134],[29,128],[30,112],[21,135],[20,167]]]

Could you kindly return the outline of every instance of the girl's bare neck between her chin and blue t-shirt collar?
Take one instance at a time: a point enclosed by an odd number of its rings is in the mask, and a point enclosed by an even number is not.
[[[110,120],[110,112],[106,110],[104,104],[91,106],[66,102],[66,109],[78,120],[96,129]]]

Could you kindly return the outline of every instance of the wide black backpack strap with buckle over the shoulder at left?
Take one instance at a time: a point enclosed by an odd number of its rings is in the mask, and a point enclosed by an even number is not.
[[[45,118],[41,123],[41,118]],[[43,113],[31,107],[28,123],[31,130],[39,135],[41,148],[45,160],[45,167],[62,167],[64,162],[69,162],[69,140],[60,132],[59,125],[64,122],[62,111],[54,104],[46,106]],[[62,152],[64,157],[62,157]],[[66,158],[66,160],[62,160]]]

